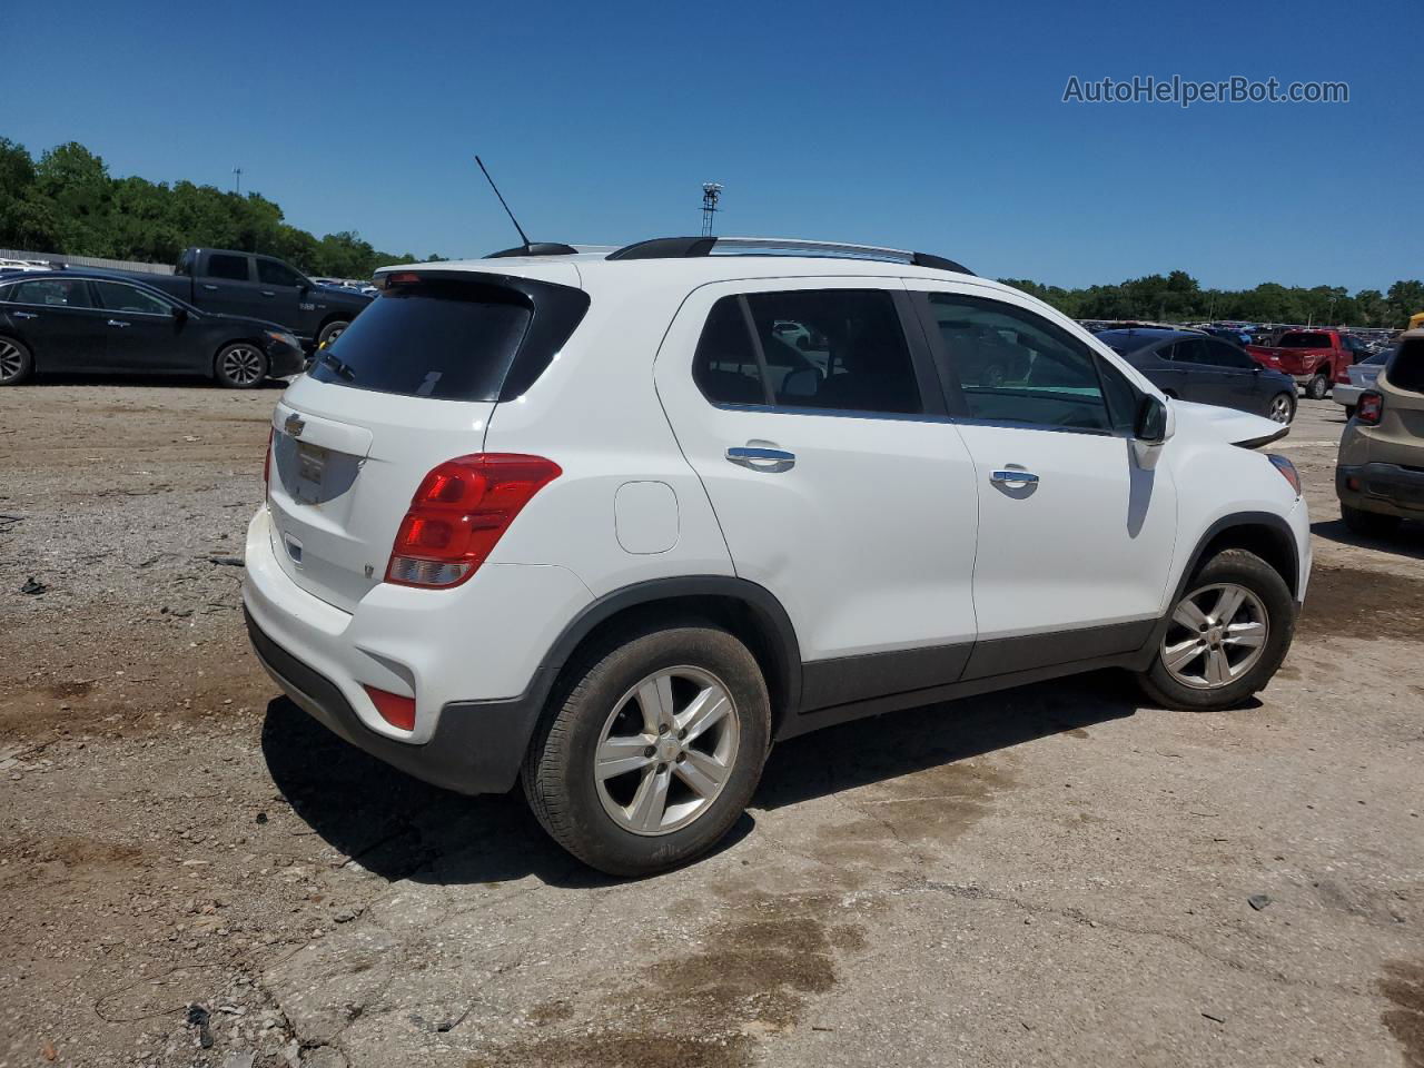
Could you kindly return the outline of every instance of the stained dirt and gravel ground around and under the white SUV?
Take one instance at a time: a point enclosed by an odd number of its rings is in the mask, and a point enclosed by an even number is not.
[[[619,883],[256,666],[276,396],[0,390],[0,1068],[1424,1065],[1424,528],[1344,531],[1336,404],[1283,443],[1316,568],[1259,702],[810,735]]]

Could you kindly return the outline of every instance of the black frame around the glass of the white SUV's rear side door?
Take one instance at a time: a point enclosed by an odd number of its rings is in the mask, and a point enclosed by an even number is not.
[[[795,279],[780,279],[769,278],[759,279],[768,283],[776,282],[830,282],[840,281],[842,276],[826,276],[826,278],[795,278]],[[903,289],[891,289],[886,285],[873,285],[879,282],[879,278],[856,278],[856,282],[863,285],[850,286],[827,286],[827,285],[806,285],[806,286],[769,286],[766,289],[739,289],[736,292],[719,292],[712,298],[712,303],[708,305],[706,313],[702,316],[702,329],[698,332],[698,343],[692,346],[692,366],[696,367],[698,347],[702,342],[702,333],[706,330],[708,322],[712,318],[712,309],[716,308],[722,300],[728,298],[736,298],[738,308],[742,309],[742,323],[746,326],[746,332],[752,339],[752,352],[756,355],[756,373],[762,383],[762,396],[765,400],[762,403],[738,403],[728,400],[712,400],[706,393],[702,392],[701,383],[696,383],[698,393],[701,397],[712,407],[722,409],[725,412],[763,412],[773,416],[829,416],[832,419],[877,419],[890,420],[897,423],[950,423],[951,414],[944,402],[944,393],[940,389],[938,376],[936,375],[933,360],[930,359],[928,346],[924,342],[924,323],[920,322],[918,315],[916,315],[914,308],[910,302],[910,295]],[[899,283],[900,279],[884,279],[889,282]],[[756,336],[756,320],[752,318],[752,306],[748,300],[749,296],[760,296],[762,293],[815,293],[815,292],[876,292],[887,293],[890,302],[894,306],[896,318],[900,323],[900,333],[904,337],[906,350],[910,353],[910,367],[914,372],[914,384],[920,393],[920,412],[874,412],[867,409],[836,409],[836,407],[810,407],[802,404],[778,404],[775,403],[775,396],[772,394],[772,379],[766,370],[766,352],[762,347],[762,339]]]

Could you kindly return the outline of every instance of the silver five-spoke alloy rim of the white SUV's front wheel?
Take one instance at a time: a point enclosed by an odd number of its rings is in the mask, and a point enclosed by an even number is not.
[[[1236,582],[1193,590],[1178,604],[1162,637],[1162,666],[1185,686],[1219,689],[1260,659],[1270,617],[1256,594]]]

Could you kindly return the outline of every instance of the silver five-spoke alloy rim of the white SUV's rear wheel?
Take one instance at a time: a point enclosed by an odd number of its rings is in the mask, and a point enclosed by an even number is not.
[[[712,807],[736,763],[726,685],[702,668],[656,671],[614,705],[594,750],[604,812],[634,834],[669,834]]]

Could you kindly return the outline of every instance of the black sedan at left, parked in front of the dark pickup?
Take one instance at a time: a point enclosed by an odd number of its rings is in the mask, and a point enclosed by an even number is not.
[[[34,372],[206,375],[253,389],[302,370],[302,343],[275,323],[199,312],[103,272],[0,275],[0,386]]]

